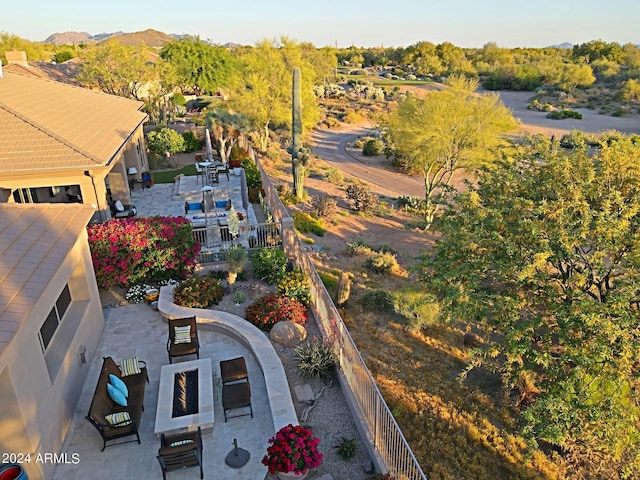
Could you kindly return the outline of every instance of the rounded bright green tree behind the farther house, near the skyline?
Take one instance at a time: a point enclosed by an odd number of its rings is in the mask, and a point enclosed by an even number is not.
[[[236,68],[226,48],[210,45],[198,37],[166,43],[160,56],[175,68],[177,84],[196,95],[213,94],[218,88],[227,87]]]

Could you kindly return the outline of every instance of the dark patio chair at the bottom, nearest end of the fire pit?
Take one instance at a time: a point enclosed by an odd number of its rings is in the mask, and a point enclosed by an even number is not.
[[[200,478],[204,478],[202,471],[202,432],[179,433],[177,435],[160,437],[158,462],[162,468],[162,478],[167,479],[167,472],[183,468],[200,467]]]

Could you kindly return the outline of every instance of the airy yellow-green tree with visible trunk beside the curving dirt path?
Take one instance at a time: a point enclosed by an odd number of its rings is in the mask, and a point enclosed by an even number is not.
[[[477,94],[475,80],[453,76],[448,87],[424,98],[409,96],[387,120],[401,164],[422,174],[425,229],[433,223],[459,169],[477,168],[517,123],[494,94]]]

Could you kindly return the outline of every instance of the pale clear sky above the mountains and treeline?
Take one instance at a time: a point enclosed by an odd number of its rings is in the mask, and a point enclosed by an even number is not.
[[[43,41],[148,28],[253,45],[286,36],[316,47],[546,47],[604,40],[640,44],[638,0],[0,0],[0,31]],[[9,6],[11,5],[11,6]]]

